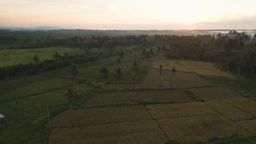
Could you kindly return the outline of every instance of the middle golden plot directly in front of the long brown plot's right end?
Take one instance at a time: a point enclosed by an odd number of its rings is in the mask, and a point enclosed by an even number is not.
[[[201,102],[147,105],[147,109],[150,115],[157,119],[218,114]]]

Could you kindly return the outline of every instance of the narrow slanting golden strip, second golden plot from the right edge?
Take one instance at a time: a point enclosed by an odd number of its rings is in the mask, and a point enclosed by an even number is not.
[[[233,122],[237,121],[238,116],[240,120],[253,118],[253,116],[249,115],[248,113],[245,113],[236,107],[226,104],[220,100],[206,101],[206,104],[225,117],[228,117]]]

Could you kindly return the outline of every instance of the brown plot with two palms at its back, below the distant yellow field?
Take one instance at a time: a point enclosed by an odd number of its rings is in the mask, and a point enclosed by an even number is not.
[[[149,69],[146,79],[141,83],[141,87],[191,88],[204,86],[216,85],[192,73],[173,74],[170,70],[162,70],[160,75],[159,69]]]

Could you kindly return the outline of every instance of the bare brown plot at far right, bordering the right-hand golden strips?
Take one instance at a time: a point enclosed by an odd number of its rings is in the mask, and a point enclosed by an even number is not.
[[[222,100],[241,98],[237,93],[230,91],[225,87],[201,87],[191,88],[189,91],[193,92],[197,97],[204,100]]]

